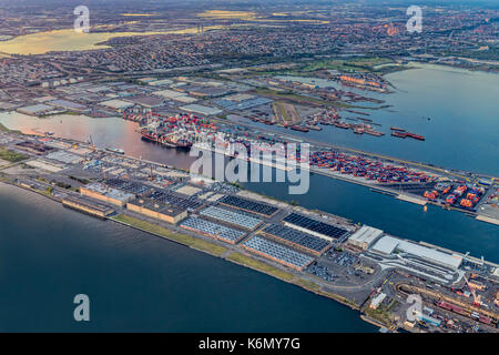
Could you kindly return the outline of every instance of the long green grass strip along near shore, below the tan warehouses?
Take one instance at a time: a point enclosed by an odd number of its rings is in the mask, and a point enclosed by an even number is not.
[[[195,239],[195,237],[186,235],[186,234],[176,233],[176,232],[173,232],[161,225],[153,224],[153,223],[150,223],[150,222],[146,222],[143,220],[139,220],[139,219],[135,219],[135,217],[132,217],[132,216],[129,216],[125,214],[119,214],[112,219],[118,222],[129,224],[131,226],[143,230],[145,232],[149,232],[149,233],[165,237],[167,240],[191,246],[193,248],[197,248],[197,250],[207,252],[207,253],[216,255],[216,256],[220,256],[227,251],[226,247],[218,246],[218,245],[212,244],[210,242],[205,242],[203,240]]]

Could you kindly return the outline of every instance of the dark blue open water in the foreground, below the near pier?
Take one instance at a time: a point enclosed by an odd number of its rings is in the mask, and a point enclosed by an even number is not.
[[[375,332],[256,271],[0,184],[2,332]],[[91,322],[73,321],[85,293]],[[265,315],[265,316],[263,316]]]

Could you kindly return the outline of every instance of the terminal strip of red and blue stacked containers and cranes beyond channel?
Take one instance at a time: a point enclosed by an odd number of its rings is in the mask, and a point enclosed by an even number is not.
[[[480,221],[499,224],[499,215],[488,205],[497,205],[493,185],[499,179],[475,175],[469,172],[451,171],[430,164],[421,164],[383,156],[330,144],[312,142],[307,161],[286,151],[289,143],[302,142],[291,135],[259,132],[241,125],[202,119],[193,114],[165,116],[150,113],[141,119],[141,136],[169,148],[197,148],[230,158],[238,158],[235,144],[243,144],[249,162],[289,170],[291,163],[306,163],[310,172],[334,179],[357,183],[376,192],[393,195],[399,200],[426,205],[434,204],[446,210],[456,210]],[[391,128],[393,133],[414,139],[424,139]],[[252,152],[258,145],[262,151]],[[265,145],[266,144],[266,145]],[[284,145],[275,149],[274,145]],[[252,153],[271,154],[269,159],[255,160]],[[275,154],[275,158],[272,156]],[[254,155],[254,154],[253,154]],[[268,156],[268,155],[267,155]],[[496,199],[496,200],[493,200]],[[496,209],[497,210],[497,209]],[[492,213],[490,213],[492,212]]]

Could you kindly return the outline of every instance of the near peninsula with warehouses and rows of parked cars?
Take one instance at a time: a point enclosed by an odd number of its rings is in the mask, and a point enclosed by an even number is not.
[[[380,327],[499,331],[499,265],[483,258],[92,144],[9,132],[0,144],[3,183],[294,283]],[[408,294],[422,301],[414,317]]]

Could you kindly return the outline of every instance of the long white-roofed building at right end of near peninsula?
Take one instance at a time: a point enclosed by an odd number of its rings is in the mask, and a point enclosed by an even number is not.
[[[389,235],[379,239],[369,251],[384,256],[393,255],[395,253],[405,253],[451,270],[457,270],[462,263],[462,256],[457,254],[444,253],[435,248]]]

